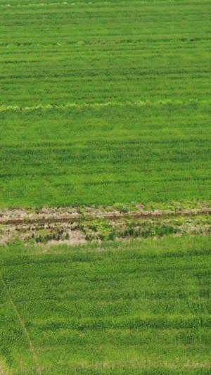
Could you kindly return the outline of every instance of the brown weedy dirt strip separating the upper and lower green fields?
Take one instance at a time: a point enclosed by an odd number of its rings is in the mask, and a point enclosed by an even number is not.
[[[168,234],[211,234],[211,208],[146,210],[136,205],[110,208],[40,208],[0,211],[0,244],[35,241],[77,245],[87,241]]]

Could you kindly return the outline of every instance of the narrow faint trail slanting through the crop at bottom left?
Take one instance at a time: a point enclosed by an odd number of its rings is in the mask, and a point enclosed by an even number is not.
[[[4,278],[3,278],[2,274],[1,274],[1,272],[0,272],[0,279],[1,279],[2,284],[4,285],[4,289],[6,291],[6,294],[8,295],[8,299],[9,299],[9,301],[10,301],[12,307],[13,307],[13,310],[15,311],[15,313],[18,316],[20,324],[23,326],[23,331],[25,332],[25,336],[27,336],[27,341],[28,341],[28,343],[30,345],[30,351],[32,352],[32,356],[34,358],[34,363],[36,364],[37,374],[41,374],[41,367],[39,365],[39,361],[38,361],[37,353],[36,353],[36,351],[34,349],[34,345],[33,345],[32,340],[30,338],[30,333],[29,333],[29,331],[27,331],[27,327],[25,325],[23,317],[21,317],[20,312],[18,311],[18,307],[15,305],[15,303],[13,301],[13,298],[11,297],[11,294],[10,294],[10,292],[8,290],[8,287],[6,286],[6,283],[4,281]],[[0,374],[6,375],[6,373],[1,368],[1,362],[0,362]]]

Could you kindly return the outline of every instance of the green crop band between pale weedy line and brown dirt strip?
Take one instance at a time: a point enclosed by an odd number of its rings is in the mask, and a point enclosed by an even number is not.
[[[210,196],[210,106],[2,111],[0,205]]]

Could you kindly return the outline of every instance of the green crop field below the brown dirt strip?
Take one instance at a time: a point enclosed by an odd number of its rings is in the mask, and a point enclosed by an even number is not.
[[[1,361],[11,374],[210,374],[210,265],[209,237],[1,248]]]

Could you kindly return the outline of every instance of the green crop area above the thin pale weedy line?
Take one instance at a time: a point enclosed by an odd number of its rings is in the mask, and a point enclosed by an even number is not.
[[[210,97],[210,1],[27,2],[0,9],[2,105]]]

